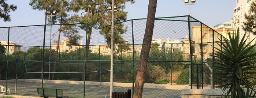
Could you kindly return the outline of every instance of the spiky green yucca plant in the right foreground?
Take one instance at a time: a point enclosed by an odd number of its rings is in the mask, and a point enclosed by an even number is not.
[[[224,41],[220,41],[218,45],[221,48],[214,47],[215,53],[211,56],[215,58],[215,64],[212,68],[215,69],[217,87],[223,88],[223,93],[230,88],[225,94],[230,94],[231,98],[248,98],[255,94],[245,94],[243,88],[255,91],[250,79],[256,74],[256,52],[248,52],[255,48],[256,44],[250,45],[254,39],[246,44],[246,33],[239,41],[239,34],[239,28],[236,33],[233,31],[233,34],[228,31],[230,39],[224,38]]]

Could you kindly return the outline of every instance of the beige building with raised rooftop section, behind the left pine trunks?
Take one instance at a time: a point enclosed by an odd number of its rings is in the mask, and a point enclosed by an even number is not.
[[[70,52],[70,51],[74,51],[78,48],[83,48],[82,45],[77,45],[77,46],[73,46],[73,45],[68,45],[69,44],[69,39],[63,39],[60,43],[59,43],[59,51],[60,52]],[[81,41],[82,42],[82,41]],[[57,43],[56,44],[52,44],[52,49],[57,49]]]

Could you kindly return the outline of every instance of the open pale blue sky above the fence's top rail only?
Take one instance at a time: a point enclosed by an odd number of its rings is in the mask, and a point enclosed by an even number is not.
[[[0,27],[27,26],[44,24],[44,12],[32,10],[30,0],[7,0],[7,3],[17,5],[17,10],[11,12],[11,22],[0,20]],[[229,21],[233,18],[236,0],[196,0],[191,5],[191,16],[211,27]],[[148,0],[135,0],[134,4],[126,3],[125,11],[128,19],[146,18]],[[157,0],[156,17],[189,15],[189,5],[183,0]]]

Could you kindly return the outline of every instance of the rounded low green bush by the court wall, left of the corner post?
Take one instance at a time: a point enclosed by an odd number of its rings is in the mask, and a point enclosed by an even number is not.
[[[177,84],[189,84],[189,68],[181,72],[177,79]]]

